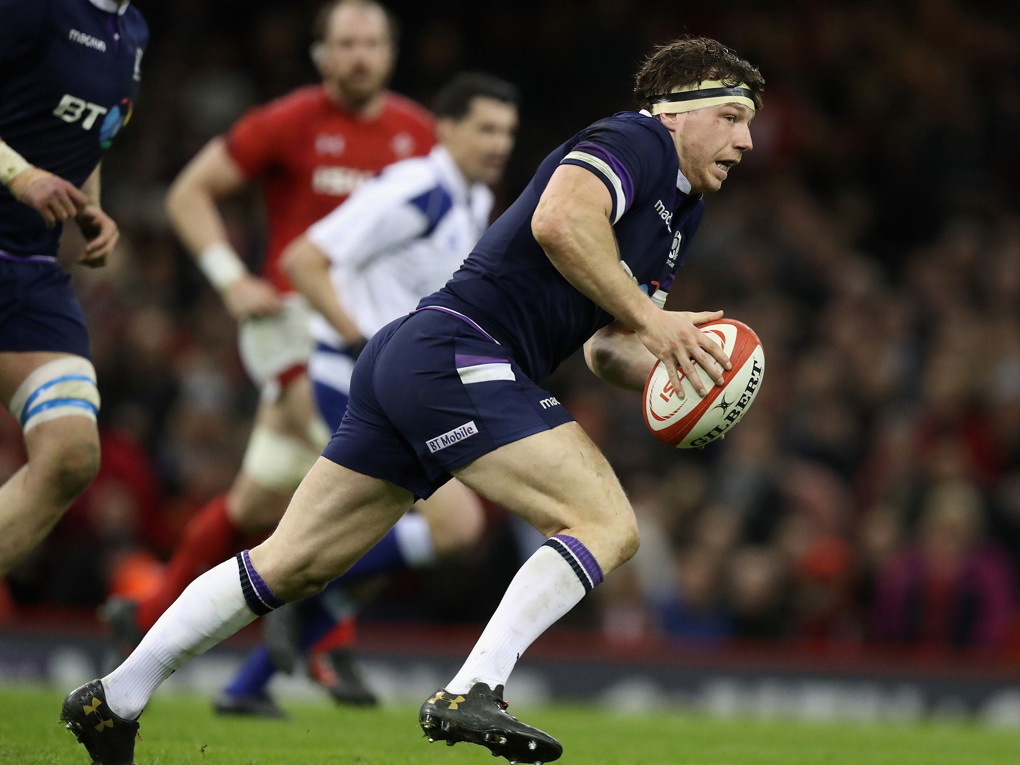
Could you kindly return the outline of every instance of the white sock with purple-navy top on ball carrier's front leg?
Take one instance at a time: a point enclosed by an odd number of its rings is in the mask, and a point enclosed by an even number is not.
[[[588,548],[573,537],[553,537],[517,571],[471,655],[446,690],[466,694],[476,682],[492,688],[505,685],[534,639],[601,581],[602,569]]]

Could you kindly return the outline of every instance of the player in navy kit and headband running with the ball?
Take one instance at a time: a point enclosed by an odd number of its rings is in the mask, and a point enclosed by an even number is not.
[[[511,761],[560,757],[555,738],[507,714],[504,683],[639,537],[611,466],[539,384],[582,346],[592,370],[622,388],[641,390],[657,359],[675,390],[679,369],[707,393],[696,363],[722,382],[729,361],[697,328],[721,312],[661,309],[675,307],[667,295],[702,195],[752,148],[764,81],[719,43],[686,38],[656,49],[635,86],[642,112],[600,120],[556,149],[453,279],[373,336],[340,428],[273,534],[196,579],[123,664],[71,692],[65,709],[108,704],[107,732],[130,743],[171,672],[321,590],[454,475],[548,542],[419,721],[430,741],[480,744]]]

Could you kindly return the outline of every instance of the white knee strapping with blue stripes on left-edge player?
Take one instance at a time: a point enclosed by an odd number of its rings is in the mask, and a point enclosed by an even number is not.
[[[24,378],[10,400],[10,412],[24,432],[58,417],[88,417],[95,422],[98,411],[96,369],[81,356],[43,364]]]

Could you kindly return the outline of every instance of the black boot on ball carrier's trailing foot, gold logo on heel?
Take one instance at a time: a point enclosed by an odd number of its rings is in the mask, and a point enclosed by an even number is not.
[[[135,765],[138,722],[113,714],[102,680],[87,682],[67,694],[60,720],[88,750],[93,765]]]

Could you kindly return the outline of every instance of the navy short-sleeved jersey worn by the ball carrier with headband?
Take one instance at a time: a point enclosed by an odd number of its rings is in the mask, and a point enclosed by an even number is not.
[[[601,119],[546,157],[453,278],[420,303],[477,321],[539,382],[613,321],[563,277],[531,235],[539,198],[560,164],[584,167],[606,185],[620,265],[660,305],[704,211],[702,196],[688,194],[669,132],[647,112]]]

